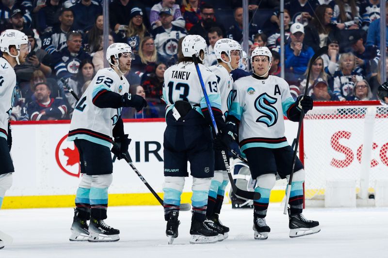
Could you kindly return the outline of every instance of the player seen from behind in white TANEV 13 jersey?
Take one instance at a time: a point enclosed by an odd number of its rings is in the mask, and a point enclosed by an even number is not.
[[[164,73],[163,99],[167,103],[164,131],[164,219],[166,235],[172,243],[178,237],[180,195],[187,177],[187,162],[193,176],[193,216],[190,243],[213,243],[218,232],[208,227],[206,208],[211,178],[214,175],[211,119],[194,58],[203,77],[210,106],[218,128],[225,128],[216,76],[203,64],[206,41],[188,35],[179,41],[178,64]]]

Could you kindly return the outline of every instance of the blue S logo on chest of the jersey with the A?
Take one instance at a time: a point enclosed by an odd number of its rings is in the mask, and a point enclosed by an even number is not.
[[[278,114],[276,108],[272,106],[276,101],[276,98],[267,95],[267,93],[261,94],[255,100],[256,110],[264,114],[256,120],[257,122],[265,123],[268,127],[271,127],[276,123]]]

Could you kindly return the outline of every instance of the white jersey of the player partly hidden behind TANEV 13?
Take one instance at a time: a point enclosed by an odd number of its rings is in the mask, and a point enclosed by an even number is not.
[[[232,76],[227,72],[226,68],[222,65],[212,65],[209,67],[209,69],[217,78],[218,89],[221,95],[221,111],[224,114],[225,121],[227,111],[232,104],[231,92],[233,88],[233,79]]]

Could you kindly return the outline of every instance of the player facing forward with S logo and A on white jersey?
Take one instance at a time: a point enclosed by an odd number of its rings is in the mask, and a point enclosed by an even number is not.
[[[284,79],[268,76],[271,61],[267,47],[255,48],[251,55],[253,75],[233,84],[233,102],[227,116],[227,121],[239,124],[240,149],[247,157],[252,178],[257,178],[255,192],[261,194],[260,199],[254,200],[255,239],[267,239],[270,232],[265,216],[276,172],[282,178],[291,174],[294,152],[284,136],[283,115],[299,121],[302,108],[307,112],[313,106],[309,96],[299,96],[294,101]],[[318,221],[302,215],[304,180],[305,171],[297,159],[289,201],[290,237],[320,231]]]

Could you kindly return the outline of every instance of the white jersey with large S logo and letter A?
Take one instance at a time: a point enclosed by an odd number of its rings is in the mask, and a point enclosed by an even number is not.
[[[252,147],[288,146],[284,118],[294,104],[288,83],[277,76],[257,79],[246,76],[233,84],[232,106],[228,115],[240,120],[241,151]]]

